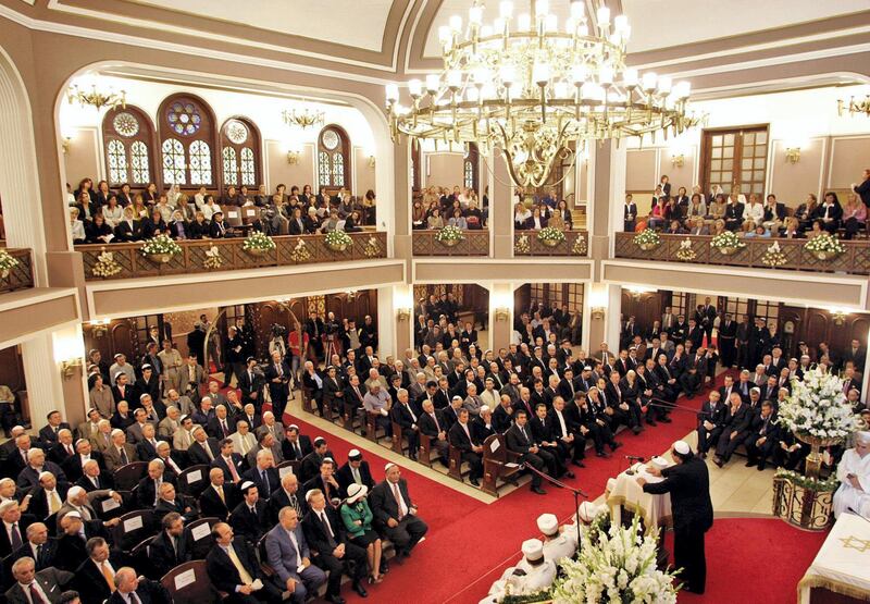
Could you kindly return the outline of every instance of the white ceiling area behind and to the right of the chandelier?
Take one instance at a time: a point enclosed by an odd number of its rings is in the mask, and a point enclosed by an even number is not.
[[[471,0],[444,0],[426,37],[424,57],[439,57],[438,26],[450,16],[468,23]],[[498,16],[498,0],[486,0],[484,23]],[[571,0],[550,0],[561,27]],[[587,2],[588,5],[588,2]],[[526,0],[514,0],[514,15],[530,12]],[[819,19],[865,11],[870,0],[622,0],[632,26],[629,52],[736,36]],[[425,32],[417,32],[425,35]]]

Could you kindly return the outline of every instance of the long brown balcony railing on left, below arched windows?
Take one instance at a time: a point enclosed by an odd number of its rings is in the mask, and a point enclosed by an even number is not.
[[[262,256],[243,249],[244,238],[177,242],[182,252],[162,262],[146,258],[141,243],[77,245],[85,263],[85,279],[135,279],[171,274],[208,273],[264,267],[293,267],[323,262],[348,262],[387,257],[387,235],[383,232],[348,233],[352,243],[344,251],[324,243],[325,235],[283,235],[273,237],[276,248]]]

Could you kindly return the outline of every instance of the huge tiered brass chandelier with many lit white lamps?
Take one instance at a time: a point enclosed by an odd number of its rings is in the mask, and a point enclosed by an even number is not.
[[[601,8],[595,20],[585,2],[571,3],[559,28],[547,0],[531,0],[531,14],[514,16],[513,2],[499,3],[499,16],[484,25],[475,0],[468,25],[450,17],[438,29],[444,69],[425,81],[408,82],[410,103],[399,87],[386,87],[394,140],[401,135],[444,143],[499,147],[519,186],[547,183],[569,144],[678,135],[695,125],[686,115],[689,85],[625,66],[631,34],[627,17],[611,21]]]

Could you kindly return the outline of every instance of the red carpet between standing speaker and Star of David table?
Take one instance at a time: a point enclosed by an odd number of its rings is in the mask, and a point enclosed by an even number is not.
[[[680,602],[794,602],[797,583],[828,537],[768,518],[722,518],[707,533],[707,590]],[[668,548],[673,551],[673,533]]]

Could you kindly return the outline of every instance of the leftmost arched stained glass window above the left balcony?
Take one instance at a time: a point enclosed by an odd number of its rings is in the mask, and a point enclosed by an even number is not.
[[[109,186],[145,187],[153,173],[153,128],[145,112],[132,104],[109,110],[102,120],[102,138]]]

